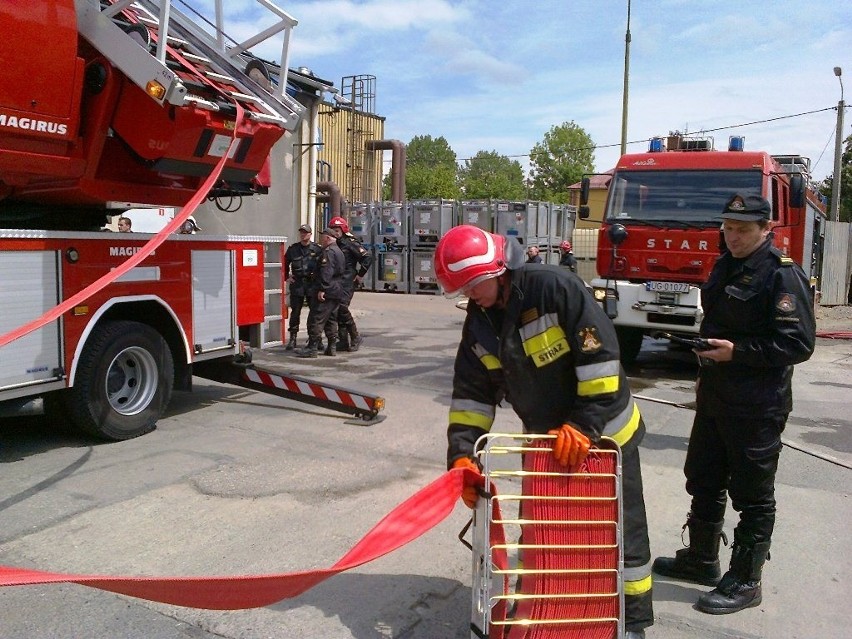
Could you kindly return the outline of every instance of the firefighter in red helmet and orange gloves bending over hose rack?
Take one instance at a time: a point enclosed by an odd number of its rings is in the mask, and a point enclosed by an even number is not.
[[[639,465],[645,425],[619,363],[610,319],[582,280],[558,266],[524,264],[513,238],[475,226],[448,231],[435,252],[446,294],[469,298],[455,361],[447,464],[479,473],[474,445],[496,406],[511,403],[526,432],[556,436],[553,454],[577,467],[602,436],[622,449],[627,639],[654,623],[651,553]],[[476,488],[464,490],[473,508]]]

